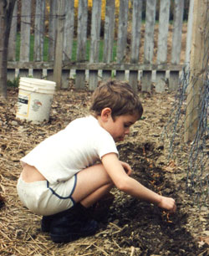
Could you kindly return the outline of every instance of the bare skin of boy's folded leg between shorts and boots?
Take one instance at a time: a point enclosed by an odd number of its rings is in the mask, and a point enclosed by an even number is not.
[[[114,186],[102,164],[90,166],[77,174],[77,184],[72,197],[84,207],[90,207]]]

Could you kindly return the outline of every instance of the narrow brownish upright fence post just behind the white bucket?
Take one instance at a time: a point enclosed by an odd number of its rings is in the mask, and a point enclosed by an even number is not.
[[[55,44],[55,59],[54,59],[54,82],[56,88],[60,89],[62,86],[62,65],[63,65],[63,45],[64,45],[64,10],[65,1],[58,2],[58,23]]]

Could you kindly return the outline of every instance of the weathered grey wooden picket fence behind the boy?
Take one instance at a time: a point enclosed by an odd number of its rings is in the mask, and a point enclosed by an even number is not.
[[[19,0],[9,38],[8,79],[30,75],[54,80],[58,87],[68,88],[69,78],[74,76],[77,89],[83,89],[88,80],[89,90],[94,90],[98,79],[115,76],[115,79],[128,79],[135,90],[139,80],[144,91],[150,91],[154,81],[155,90],[162,92],[166,80],[169,81],[169,90],[176,90],[179,74],[188,62],[191,49],[193,0],[190,1],[184,49],[181,44],[184,0],[175,0],[172,22],[170,0],[161,0],[159,21],[155,21],[157,1],[160,0],[120,0],[117,9],[115,1],[106,0],[102,20],[102,0],[93,0],[89,8],[88,0],[79,0],[78,10],[74,8],[74,0]],[[142,4],[145,4],[145,21],[141,18]],[[88,18],[89,13],[91,18]],[[19,23],[20,54],[17,61]],[[32,33],[33,61],[30,61]],[[48,59],[43,61],[46,37]],[[74,41],[77,42],[75,60],[72,59]],[[89,59],[86,58],[87,41]],[[101,48],[102,60],[99,57]]]

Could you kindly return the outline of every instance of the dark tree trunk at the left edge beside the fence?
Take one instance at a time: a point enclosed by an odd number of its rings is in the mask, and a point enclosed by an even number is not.
[[[0,95],[7,98],[8,38],[16,0],[0,1]]]

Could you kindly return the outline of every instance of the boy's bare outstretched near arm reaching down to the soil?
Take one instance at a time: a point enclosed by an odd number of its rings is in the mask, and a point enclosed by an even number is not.
[[[115,186],[121,191],[146,202],[152,202],[158,207],[165,208],[170,212],[176,211],[176,204],[173,198],[162,197],[140,184],[140,182],[137,182],[134,178],[129,177],[115,153],[103,156],[102,163],[110,178],[115,183]]]

